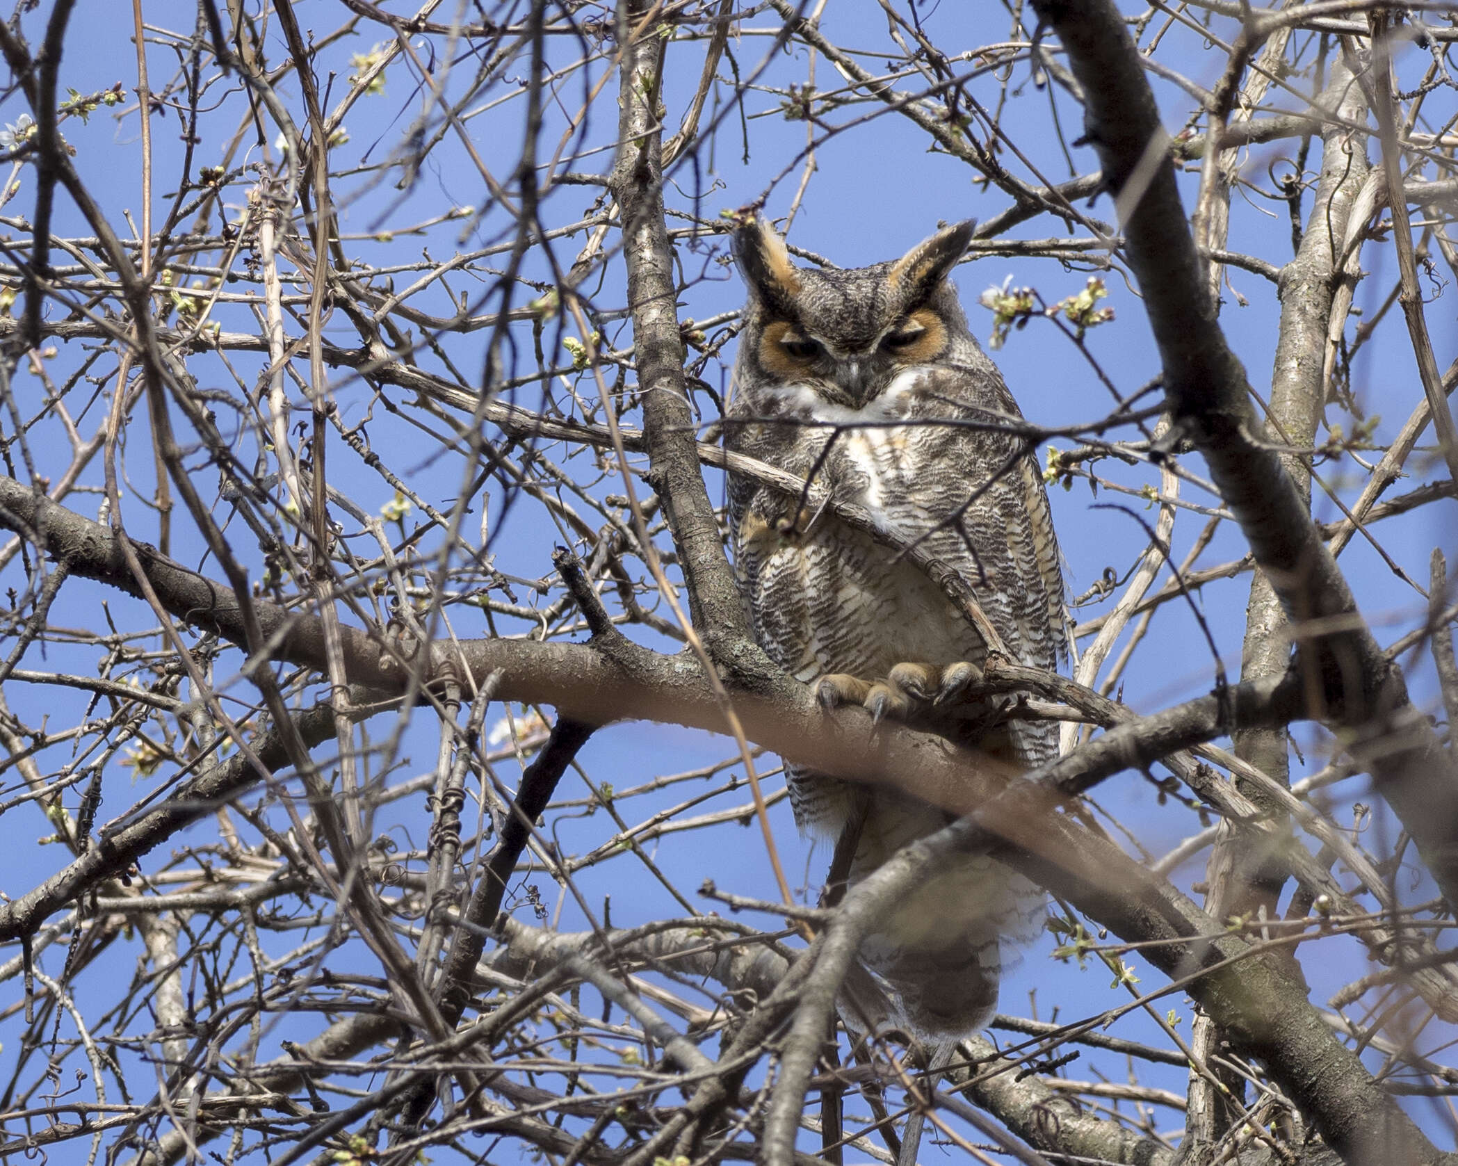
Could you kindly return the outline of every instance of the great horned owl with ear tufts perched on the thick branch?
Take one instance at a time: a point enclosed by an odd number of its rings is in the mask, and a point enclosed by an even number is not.
[[[1035,461],[999,429],[1018,407],[948,280],[970,240],[962,223],[894,262],[821,271],[796,267],[765,222],[739,227],[749,302],[726,442],[923,539],[971,584],[1007,652],[1051,669],[1064,644],[1059,547]],[[736,573],[780,666],[824,704],[859,701],[1021,768],[1056,755],[1050,721],[951,720],[987,656],[983,637],[895,551],[798,506],[729,478]],[[851,883],[948,821],[895,791],[787,772],[800,829],[854,847]],[[900,904],[860,958],[900,998],[905,1028],[962,1036],[997,1003],[999,940],[1029,931],[1040,907],[1009,867],[962,858]]]

